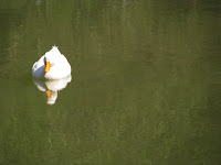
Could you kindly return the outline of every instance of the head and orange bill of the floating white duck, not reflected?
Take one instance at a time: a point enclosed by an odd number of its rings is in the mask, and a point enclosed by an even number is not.
[[[53,46],[51,51],[45,53],[45,56],[44,56],[44,63],[45,63],[44,72],[45,73],[49,73],[51,67],[53,67],[57,63],[59,55],[61,55],[61,53],[56,46]]]

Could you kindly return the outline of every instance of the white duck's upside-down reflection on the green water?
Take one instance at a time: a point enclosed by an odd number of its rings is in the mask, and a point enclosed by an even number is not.
[[[45,92],[46,96],[46,103],[54,105],[57,98],[57,91],[63,90],[66,88],[67,84],[72,80],[72,76],[67,76],[62,79],[56,80],[39,80],[33,79],[34,84],[36,85],[40,91]]]

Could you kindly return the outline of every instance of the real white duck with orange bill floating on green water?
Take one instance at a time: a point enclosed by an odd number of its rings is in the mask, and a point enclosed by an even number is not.
[[[66,57],[56,46],[46,52],[32,67],[32,76],[39,79],[61,79],[71,75]]]

